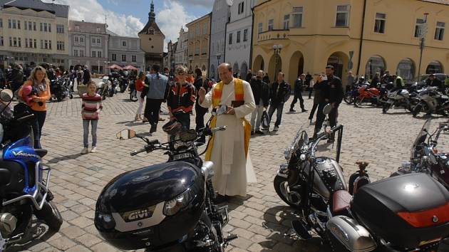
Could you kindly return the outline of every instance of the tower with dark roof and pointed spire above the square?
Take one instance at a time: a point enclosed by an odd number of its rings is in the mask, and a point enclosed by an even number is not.
[[[138,36],[140,38],[140,48],[145,52],[145,67],[147,70],[154,64],[160,65],[162,68],[165,35],[160,31],[156,23],[153,0],[148,13],[148,23],[138,33]]]

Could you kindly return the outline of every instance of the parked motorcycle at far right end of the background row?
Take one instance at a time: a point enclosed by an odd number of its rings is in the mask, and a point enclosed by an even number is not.
[[[416,102],[413,108],[413,117],[416,117],[421,111],[427,114],[439,114],[443,116],[449,115],[449,97],[438,91],[437,87],[427,87],[418,90]]]

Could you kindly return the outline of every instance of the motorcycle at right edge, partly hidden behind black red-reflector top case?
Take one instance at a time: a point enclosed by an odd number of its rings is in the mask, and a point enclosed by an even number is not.
[[[441,132],[449,132],[449,123],[440,123],[435,132],[430,134],[431,119],[425,121],[418,137],[411,148],[408,162],[403,162],[397,172],[391,176],[409,174],[412,172],[425,172],[449,190],[449,154],[438,152],[437,145]]]

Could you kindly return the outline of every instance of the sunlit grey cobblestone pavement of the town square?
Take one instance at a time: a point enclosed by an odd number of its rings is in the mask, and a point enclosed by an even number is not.
[[[310,109],[311,100],[306,99],[305,103]],[[98,152],[81,155],[81,99],[75,95],[73,100],[48,103],[42,145],[48,149],[45,161],[53,167],[51,190],[64,223],[58,233],[43,233],[11,251],[115,251],[93,225],[98,194],[118,174],[166,161],[162,152],[130,157],[129,153],[141,148],[143,142],[115,139],[115,133],[125,128],[137,132],[150,129],[148,124],[133,121],[137,105],[128,100],[127,93],[107,98],[98,124]],[[252,137],[250,154],[258,183],[248,185],[246,198],[234,197],[229,203],[230,221],[225,231],[232,229],[239,238],[232,241],[227,251],[326,251],[318,238],[304,242],[284,237],[294,212],[275,193],[273,178],[279,164],[284,162],[284,148],[299,127],[304,126],[310,133],[313,131],[307,120],[308,112],[286,113],[288,105],[279,132]],[[435,123],[441,121],[441,118],[434,120]],[[192,122],[195,122],[194,117]],[[412,142],[424,120],[413,118],[404,110],[391,110],[383,115],[378,108],[356,108],[343,103],[339,122],[344,125],[341,165],[346,177],[356,170],[356,161],[365,160],[370,163],[370,177],[377,180],[388,177],[408,159]],[[165,140],[160,127],[161,124],[154,137]],[[440,142],[445,146],[440,145],[440,149],[449,150],[447,139],[448,135],[443,135]],[[331,148],[332,145],[324,144],[320,147],[321,151]],[[44,228],[45,225],[37,224],[38,230]]]

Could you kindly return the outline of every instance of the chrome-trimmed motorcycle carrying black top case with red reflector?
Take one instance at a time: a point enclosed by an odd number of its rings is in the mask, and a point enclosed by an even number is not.
[[[330,109],[325,113],[329,113]],[[339,165],[343,126],[309,140],[300,130],[274,178],[277,194],[299,210],[292,234],[308,240],[315,231],[332,251],[431,251],[449,235],[449,191],[428,174],[415,173],[370,183],[366,162],[349,186]],[[338,132],[336,159],[316,157],[321,140]],[[413,191],[413,193],[411,193]],[[427,191],[433,192],[428,197]],[[426,219],[425,216],[435,216]]]

